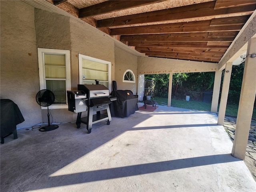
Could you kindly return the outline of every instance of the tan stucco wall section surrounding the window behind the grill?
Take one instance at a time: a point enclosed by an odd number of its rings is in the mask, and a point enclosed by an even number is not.
[[[78,54],[111,62],[111,79],[114,79],[114,40],[107,37],[100,30],[73,19],[70,19],[70,31],[72,90],[77,90],[77,84],[79,84]]]

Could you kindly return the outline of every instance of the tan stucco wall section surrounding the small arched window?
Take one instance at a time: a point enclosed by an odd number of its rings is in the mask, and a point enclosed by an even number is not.
[[[115,81],[118,90],[131,90],[133,94],[137,94],[137,56],[125,52],[124,50],[115,48]],[[135,76],[135,83],[123,82],[124,72],[126,70],[132,70]]]

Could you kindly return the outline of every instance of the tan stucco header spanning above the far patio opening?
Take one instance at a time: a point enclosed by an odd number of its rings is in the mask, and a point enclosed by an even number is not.
[[[138,57],[138,75],[211,72],[218,70],[218,64],[165,58]]]

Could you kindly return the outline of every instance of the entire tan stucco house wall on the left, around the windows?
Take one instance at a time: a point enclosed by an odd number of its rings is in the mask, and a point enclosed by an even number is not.
[[[116,48],[114,40],[88,24],[73,18],[51,13],[21,1],[1,1],[1,98],[18,104],[25,122],[17,128],[47,123],[47,110],[36,103],[40,90],[37,48],[70,50],[71,86],[77,89],[78,53],[111,62],[112,80],[119,89],[132,90],[135,84],[123,83],[125,70],[137,77],[137,56]],[[118,66],[115,66],[115,63]],[[119,70],[116,73],[116,70]],[[116,74],[117,77],[116,77]],[[112,86],[111,86],[112,87]],[[76,120],[68,109],[52,109],[53,122]],[[52,121],[52,119],[50,118]]]

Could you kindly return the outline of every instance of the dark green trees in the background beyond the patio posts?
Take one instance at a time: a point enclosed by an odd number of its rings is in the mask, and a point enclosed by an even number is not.
[[[196,92],[192,99],[201,100],[205,91],[213,90],[215,72],[197,72],[197,73],[175,73],[172,78],[172,96],[178,99],[184,99],[184,95],[188,92]],[[240,99],[242,87],[242,79],[244,74],[244,63],[239,66],[232,66],[232,74],[230,79],[230,89],[228,92],[228,103],[237,104]],[[223,82],[222,74],[222,82]],[[145,78],[152,78],[155,83],[155,95],[167,98],[169,74],[150,74]],[[221,83],[222,88],[222,83]],[[220,90],[221,90],[220,88]],[[256,101],[254,102],[255,106]]]

